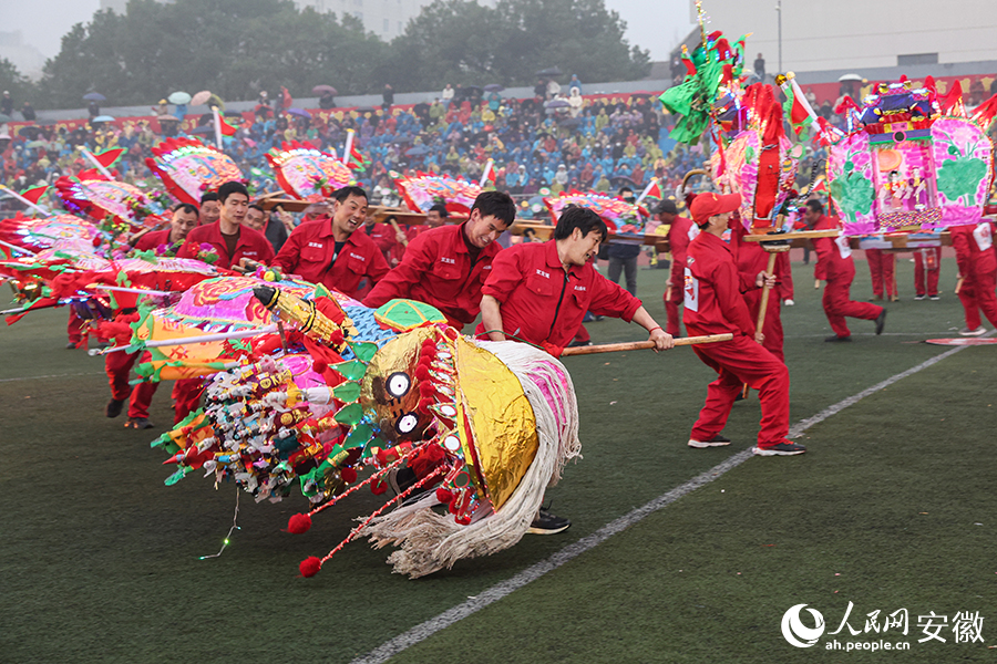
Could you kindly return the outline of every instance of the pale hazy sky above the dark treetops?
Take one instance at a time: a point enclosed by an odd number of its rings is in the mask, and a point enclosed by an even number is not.
[[[665,60],[671,48],[692,29],[689,0],[606,0],[627,22],[627,39]],[[59,52],[60,39],[74,24],[86,22],[100,0],[0,0],[0,30],[20,30],[24,41],[47,58]]]

